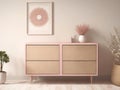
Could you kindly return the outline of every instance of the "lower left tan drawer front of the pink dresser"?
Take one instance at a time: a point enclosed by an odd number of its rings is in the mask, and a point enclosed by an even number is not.
[[[27,74],[59,74],[58,61],[27,61]]]

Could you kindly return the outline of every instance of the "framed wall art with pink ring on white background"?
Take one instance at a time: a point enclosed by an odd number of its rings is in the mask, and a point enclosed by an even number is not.
[[[52,35],[52,2],[27,3],[28,35]]]

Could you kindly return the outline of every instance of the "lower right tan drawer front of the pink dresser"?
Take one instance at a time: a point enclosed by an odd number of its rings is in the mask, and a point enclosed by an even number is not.
[[[96,74],[96,61],[63,61],[63,74]]]

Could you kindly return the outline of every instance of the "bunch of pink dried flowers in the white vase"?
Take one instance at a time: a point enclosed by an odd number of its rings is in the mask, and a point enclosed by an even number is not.
[[[79,35],[84,35],[89,29],[89,26],[88,25],[77,25],[76,26],[76,31]]]

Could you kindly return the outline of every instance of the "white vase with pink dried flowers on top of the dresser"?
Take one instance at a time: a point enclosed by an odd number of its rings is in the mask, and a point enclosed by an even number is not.
[[[78,36],[75,36],[76,41],[84,43],[86,42],[85,34],[88,31],[89,26],[88,25],[77,25],[76,31],[78,33]]]

